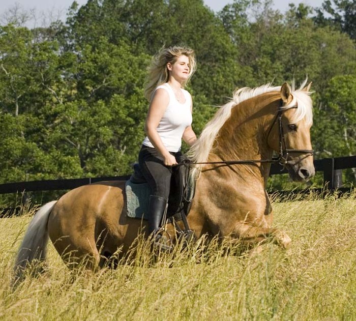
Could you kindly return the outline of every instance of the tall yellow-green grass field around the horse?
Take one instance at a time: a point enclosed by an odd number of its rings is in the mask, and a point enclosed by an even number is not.
[[[288,250],[231,255],[213,243],[95,274],[70,273],[49,243],[48,272],[10,289],[33,213],[0,219],[2,320],[356,320],[356,194],[274,201]],[[197,263],[199,261],[199,263]]]

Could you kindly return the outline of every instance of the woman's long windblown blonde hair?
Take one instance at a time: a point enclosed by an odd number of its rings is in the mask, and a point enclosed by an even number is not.
[[[191,76],[193,75],[196,62],[194,51],[185,46],[172,46],[168,48],[162,48],[153,58],[151,66],[149,67],[149,75],[147,76],[146,85],[144,89],[144,97],[151,100],[157,86],[168,81],[169,73],[167,64],[174,64],[178,57],[186,55],[189,59],[189,77],[182,84],[185,86]]]

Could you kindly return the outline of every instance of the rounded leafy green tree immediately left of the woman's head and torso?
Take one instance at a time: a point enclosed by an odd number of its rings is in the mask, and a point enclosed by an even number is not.
[[[140,66],[147,64],[147,56],[132,56],[127,45],[101,38],[94,48],[83,45],[74,59],[68,52],[63,57],[70,57],[66,77],[71,90],[36,112],[40,127],[46,128],[43,148],[76,159],[83,176],[129,172],[144,136]]]

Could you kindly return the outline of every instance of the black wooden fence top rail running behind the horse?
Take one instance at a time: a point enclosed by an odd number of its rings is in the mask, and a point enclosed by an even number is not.
[[[327,190],[342,187],[342,169],[355,168],[356,156],[324,158],[314,161],[315,171],[323,171],[324,186]],[[273,164],[270,175],[287,173],[281,165]],[[34,191],[53,191],[73,189],[82,185],[93,184],[100,181],[128,180],[130,176],[113,176],[99,178],[82,178],[67,180],[46,180],[32,182],[17,182],[0,185],[0,194]]]

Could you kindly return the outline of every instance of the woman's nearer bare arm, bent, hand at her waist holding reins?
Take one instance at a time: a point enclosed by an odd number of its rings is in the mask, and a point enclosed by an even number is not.
[[[157,89],[152,98],[149,112],[147,113],[144,129],[155,149],[162,155],[164,164],[173,166],[177,163],[175,157],[169,154],[163,145],[161,137],[157,133],[158,124],[166,111],[168,103],[168,93],[164,89]]]

